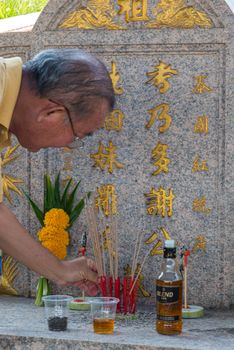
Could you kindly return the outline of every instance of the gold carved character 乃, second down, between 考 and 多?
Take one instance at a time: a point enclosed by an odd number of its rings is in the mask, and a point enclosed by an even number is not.
[[[168,114],[169,111],[170,111],[170,107],[167,103],[161,103],[155,108],[149,109],[148,112],[151,118],[149,122],[146,124],[146,128],[150,129],[158,116],[159,120],[164,120],[164,124],[159,127],[159,132],[164,133],[165,131],[167,131],[171,126],[171,116]]]

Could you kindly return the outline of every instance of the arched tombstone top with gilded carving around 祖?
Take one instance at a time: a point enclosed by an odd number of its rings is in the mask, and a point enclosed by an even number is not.
[[[209,30],[225,27],[224,14],[232,15],[220,0],[54,0],[43,10],[34,31]]]

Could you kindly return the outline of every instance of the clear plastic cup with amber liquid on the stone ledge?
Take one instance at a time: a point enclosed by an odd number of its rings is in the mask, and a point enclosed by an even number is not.
[[[96,297],[89,301],[94,333],[113,334],[118,302],[119,299],[112,297]]]

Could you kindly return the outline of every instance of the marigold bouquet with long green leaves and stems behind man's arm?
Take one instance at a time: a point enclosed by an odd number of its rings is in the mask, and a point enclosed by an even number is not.
[[[56,176],[54,184],[50,177],[45,175],[43,210],[37,206],[28,194],[25,194],[42,226],[37,233],[39,241],[43,247],[60,260],[64,260],[67,256],[68,229],[79,217],[85,205],[83,198],[77,203],[75,201],[79,184],[80,181],[71,188],[72,179],[70,179],[63,193],[61,193],[60,173]],[[51,287],[48,279],[40,277],[37,284],[35,304],[43,305],[42,297],[49,294],[51,294]]]

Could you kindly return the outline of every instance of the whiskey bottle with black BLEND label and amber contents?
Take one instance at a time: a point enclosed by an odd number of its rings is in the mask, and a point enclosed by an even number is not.
[[[173,335],[182,331],[182,278],[174,240],[166,240],[161,273],[156,280],[156,330]]]

